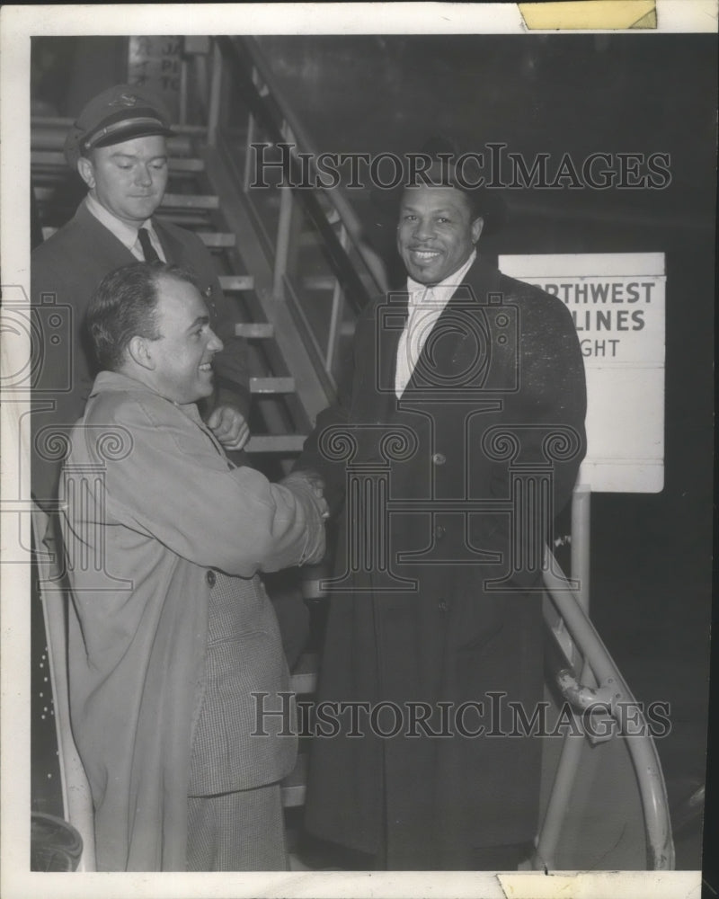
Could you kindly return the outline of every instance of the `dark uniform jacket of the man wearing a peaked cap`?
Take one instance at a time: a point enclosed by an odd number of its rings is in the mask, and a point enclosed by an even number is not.
[[[213,327],[225,343],[213,366],[226,394],[246,414],[249,405],[246,347],[234,337],[235,311],[224,297],[215,263],[200,238],[171,222],[153,219],[168,263],[194,275],[209,302]],[[93,293],[105,275],[136,263],[129,249],[87,209],[31,254],[31,304],[37,311],[33,378],[32,491],[42,503],[57,494],[63,453],[58,433],[69,433],[83,414],[97,371],[83,331]]]

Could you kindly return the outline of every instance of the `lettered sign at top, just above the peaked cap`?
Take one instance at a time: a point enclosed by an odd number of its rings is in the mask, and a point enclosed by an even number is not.
[[[128,84],[146,87],[164,101],[173,121],[180,118],[182,37],[129,39]]]

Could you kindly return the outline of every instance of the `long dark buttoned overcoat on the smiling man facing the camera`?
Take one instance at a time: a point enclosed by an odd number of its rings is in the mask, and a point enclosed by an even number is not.
[[[477,261],[397,400],[406,307],[359,317],[298,464],[339,516],[306,825],[412,869],[537,831],[540,741],[510,703],[542,699],[536,544],[572,493],[586,393],[564,304]]]

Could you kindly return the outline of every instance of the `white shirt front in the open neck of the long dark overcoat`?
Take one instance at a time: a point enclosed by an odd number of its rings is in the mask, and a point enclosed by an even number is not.
[[[395,394],[400,399],[409,384],[424,344],[431,334],[437,319],[447,306],[452,294],[463,283],[467,271],[476,259],[473,250],[461,269],[453,271],[439,284],[420,284],[407,278],[407,293],[410,295],[407,324],[400,334],[397,344],[397,367],[395,369]]]

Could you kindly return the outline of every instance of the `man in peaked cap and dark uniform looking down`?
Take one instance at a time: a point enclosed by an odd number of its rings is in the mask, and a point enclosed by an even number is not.
[[[246,348],[235,337],[234,312],[211,256],[191,231],[155,218],[167,186],[165,138],[172,133],[162,104],[133,85],[93,97],[67,133],[67,163],[87,185],[87,196],[31,254],[31,303],[55,304],[66,329],[61,352],[41,359],[31,416],[31,484],[40,506],[50,508],[56,498],[62,453],[54,449],[67,443],[96,374],[83,336],[85,310],[102,278],[122,265],[160,260],[191,271],[225,345],[213,363],[217,389],[203,413],[225,449],[242,449],[249,436]]]

